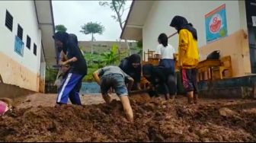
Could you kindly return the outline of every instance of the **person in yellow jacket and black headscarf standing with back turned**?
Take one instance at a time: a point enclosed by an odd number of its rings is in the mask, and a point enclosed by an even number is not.
[[[178,67],[181,69],[182,82],[187,91],[188,103],[197,103],[197,64],[199,62],[199,51],[197,46],[197,30],[187,19],[175,16],[170,24],[178,30]]]

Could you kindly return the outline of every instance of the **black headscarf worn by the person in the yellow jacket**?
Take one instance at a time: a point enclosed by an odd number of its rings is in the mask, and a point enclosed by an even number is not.
[[[193,24],[188,24],[187,19],[185,17],[181,17],[181,16],[174,16],[174,18],[171,21],[170,24],[171,27],[177,27],[178,28],[178,33],[180,32],[180,30],[182,29],[186,29],[189,30],[194,39],[197,40],[197,30],[193,27]]]

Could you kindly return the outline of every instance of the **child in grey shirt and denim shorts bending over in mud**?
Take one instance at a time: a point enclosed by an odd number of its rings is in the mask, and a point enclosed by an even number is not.
[[[130,106],[130,100],[128,98],[128,91],[133,87],[133,78],[126,75],[118,66],[106,66],[100,68],[93,73],[95,81],[101,86],[101,94],[106,103],[112,101],[108,91],[110,87],[114,88],[118,97],[123,104],[123,110],[126,113],[127,119],[133,122],[133,110]],[[128,90],[125,84],[125,80],[128,80]]]

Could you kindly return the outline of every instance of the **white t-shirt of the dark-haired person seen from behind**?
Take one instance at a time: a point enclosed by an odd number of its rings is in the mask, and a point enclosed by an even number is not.
[[[161,59],[174,59],[174,53],[175,49],[170,44],[168,44],[168,46],[163,46],[162,44],[159,44],[156,48],[156,54],[161,55]]]

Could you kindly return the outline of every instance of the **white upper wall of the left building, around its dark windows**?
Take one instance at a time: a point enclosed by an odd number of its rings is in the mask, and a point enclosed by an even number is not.
[[[5,27],[5,13],[13,17],[12,31]],[[14,52],[14,38],[17,35],[18,24],[23,28],[24,56]],[[30,49],[27,49],[29,35]],[[34,55],[34,43],[37,45],[37,56]],[[37,24],[37,14],[34,1],[0,1],[0,52],[24,65],[35,74],[40,71],[41,31]]]

